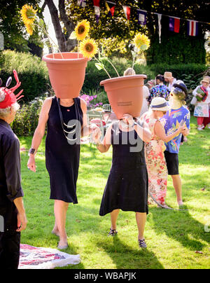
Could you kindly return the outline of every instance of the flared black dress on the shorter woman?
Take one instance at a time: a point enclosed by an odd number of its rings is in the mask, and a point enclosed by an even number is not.
[[[139,145],[137,152],[131,152],[135,149],[134,141],[136,146]],[[113,161],[99,215],[104,216],[114,209],[148,214],[148,174],[144,142],[136,131],[122,132],[118,123],[114,123],[111,144]]]

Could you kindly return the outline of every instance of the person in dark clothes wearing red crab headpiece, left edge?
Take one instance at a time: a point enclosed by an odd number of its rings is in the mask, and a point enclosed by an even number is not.
[[[16,76],[16,73],[14,73]],[[18,74],[16,76],[18,78]],[[20,232],[27,226],[22,202],[24,193],[20,177],[20,142],[10,128],[20,108],[14,88],[0,88],[0,265],[2,269],[18,269]],[[20,98],[20,97],[19,97]],[[3,229],[2,229],[3,228]]]

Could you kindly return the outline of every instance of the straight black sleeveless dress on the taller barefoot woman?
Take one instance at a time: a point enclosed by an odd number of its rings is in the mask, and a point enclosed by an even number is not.
[[[60,106],[62,118],[66,125],[70,120],[80,120],[83,125],[83,111],[80,107],[80,99],[74,99],[70,107]],[[71,123],[71,122],[70,122]],[[70,132],[75,127],[66,127],[64,130]],[[45,141],[45,163],[50,175],[50,199],[63,200],[64,202],[78,203],[76,196],[76,181],[78,179],[78,167],[80,160],[80,140],[69,144],[68,133],[64,134],[59,116],[57,97],[52,97],[52,105],[48,118],[48,133]],[[76,128],[73,137],[79,137],[79,127]],[[71,134],[72,135],[72,134]]]

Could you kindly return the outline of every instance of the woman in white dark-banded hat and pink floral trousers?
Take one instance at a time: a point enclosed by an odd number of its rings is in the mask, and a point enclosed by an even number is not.
[[[146,142],[145,157],[148,171],[148,191],[153,195],[153,198],[159,206],[167,208],[165,198],[167,195],[167,164],[165,161],[164,151],[166,149],[165,142],[168,142],[174,137],[177,137],[182,127],[176,131],[165,134],[165,128],[160,122],[169,106],[163,97],[155,97],[151,101],[150,110],[141,116],[141,121],[148,124],[152,133],[152,139]],[[151,200],[150,200],[151,201]]]

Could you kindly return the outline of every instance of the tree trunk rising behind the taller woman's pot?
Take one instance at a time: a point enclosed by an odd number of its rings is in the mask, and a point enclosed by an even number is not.
[[[55,4],[53,3],[52,0],[45,0],[45,2],[48,5],[48,8],[50,10],[52,24],[55,29],[55,36],[57,38],[59,50],[61,52],[68,52],[68,51],[73,50],[73,48],[76,46],[76,41],[70,40],[69,36],[71,32],[73,32],[74,25],[66,15],[64,0],[59,0],[59,13],[60,13],[60,18],[62,22],[64,23],[64,27],[66,28],[66,31],[67,31],[66,36],[62,32],[62,27],[59,22],[59,15],[58,15],[58,11],[57,11]]]

